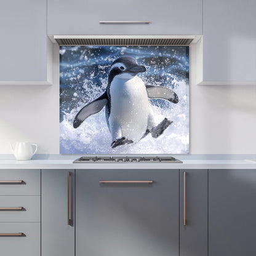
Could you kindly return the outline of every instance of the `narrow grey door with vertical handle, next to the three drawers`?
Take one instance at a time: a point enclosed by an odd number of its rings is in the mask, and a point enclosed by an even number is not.
[[[70,219],[68,225],[68,172]],[[74,255],[74,170],[42,170],[42,256]]]

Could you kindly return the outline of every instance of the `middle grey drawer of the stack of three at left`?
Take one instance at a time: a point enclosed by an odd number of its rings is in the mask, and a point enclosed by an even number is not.
[[[40,222],[40,215],[41,196],[0,196],[0,222]]]

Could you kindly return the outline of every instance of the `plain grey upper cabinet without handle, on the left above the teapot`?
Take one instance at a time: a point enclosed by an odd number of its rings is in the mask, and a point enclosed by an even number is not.
[[[0,84],[50,84],[46,0],[2,1]]]

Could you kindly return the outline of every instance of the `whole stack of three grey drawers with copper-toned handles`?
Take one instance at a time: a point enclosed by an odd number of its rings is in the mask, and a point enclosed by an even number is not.
[[[41,255],[41,170],[0,170],[0,255]]]

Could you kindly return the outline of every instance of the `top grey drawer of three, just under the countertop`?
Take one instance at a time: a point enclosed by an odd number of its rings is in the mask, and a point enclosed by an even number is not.
[[[0,195],[40,195],[41,170],[0,170]],[[12,183],[13,182],[13,183]]]

